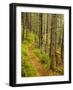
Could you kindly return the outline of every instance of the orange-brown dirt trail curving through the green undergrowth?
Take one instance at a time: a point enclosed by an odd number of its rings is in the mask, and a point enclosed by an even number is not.
[[[49,72],[43,67],[43,65],[39,62],[39,58],[34,54],[32,45],[28,46],[28,57],[40,76],[49,75]]]

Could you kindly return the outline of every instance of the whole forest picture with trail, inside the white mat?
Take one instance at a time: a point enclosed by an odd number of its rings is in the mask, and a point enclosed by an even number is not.
[[[21,14],[22,77],[64,75],[64,15]]]

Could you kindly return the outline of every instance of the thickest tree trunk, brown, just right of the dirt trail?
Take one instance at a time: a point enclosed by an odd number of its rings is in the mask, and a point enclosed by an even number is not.
[[[56,28],[57,28],[57,16],[52,15],[52,29],[51,29],[51,69],[56,70]]]

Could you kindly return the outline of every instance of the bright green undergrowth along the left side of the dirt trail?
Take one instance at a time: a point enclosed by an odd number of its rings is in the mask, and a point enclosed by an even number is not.
[[[37,72],[35,67],[30,62],[30,59],[28,57],[28,46],[27,43],[22,43],[22,77],[26,76],[36,76]]]

